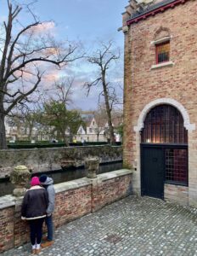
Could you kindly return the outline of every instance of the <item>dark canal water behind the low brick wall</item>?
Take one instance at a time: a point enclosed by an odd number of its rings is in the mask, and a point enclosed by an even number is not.
[[[122,168],[122,161],[110,162],[107,164],[101,164],[97,174],[104,172],[113,172]],[[41,176],[43,173],[53,178],[54,184],[64,183],[70,180],[74,180],[81,177],[86,177],[86,171],[84,167],[77,169],[65,169],[59,171],[39,172],[34,173],[32,176]],[[0,196],[12,194],[14,185],[9,182],[8,177],[0,178]]]

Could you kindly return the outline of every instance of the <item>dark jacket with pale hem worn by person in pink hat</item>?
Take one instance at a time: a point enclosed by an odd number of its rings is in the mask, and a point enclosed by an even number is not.
[[[31,189],[26,190],[22,207],[22,219],[35,219],[46,217],[48,208],[48,193],[46,189],[41,186],[32,186]]]

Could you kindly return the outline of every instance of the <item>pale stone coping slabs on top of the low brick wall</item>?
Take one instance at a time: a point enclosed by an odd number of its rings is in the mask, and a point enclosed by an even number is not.
[[[121,177],[125,176],[128,174],[132,174],[132,170],[128,169],[121,169],[117,170],[114,172],[106,172],[102,174],[98,174],[96,178],[87,178],[87,177],[82,177],[79,179],[75,179],[69,182],[65,183],[58,183],[54,184],[54,189],[56,193],[60,193],[66,190],[70,189],[78,189],[81,187],[85,187],[88,185],[91,185],[93,183],[93,180],[100,180],[100,181],[105,181],[108,179],[112,179],[115,177]],[[0,210],[8,207],[14,207],[17,203],[21,202],[23,197],[15,197],[14,195],[4,195],[0,197]]]

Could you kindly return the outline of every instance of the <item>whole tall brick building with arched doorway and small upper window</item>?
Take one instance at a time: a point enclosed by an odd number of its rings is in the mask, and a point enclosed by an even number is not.
[[[197,206],[197,1],[130,0],[124,164],[133,190]]]

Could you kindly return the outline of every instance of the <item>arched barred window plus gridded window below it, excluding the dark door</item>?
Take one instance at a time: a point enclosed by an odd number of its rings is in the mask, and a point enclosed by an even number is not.
[[[142,145],[159,147],[163,152],[166,183],[188,185],[188,131],[183,117],[171,105],[152,108],[144,120]]]

